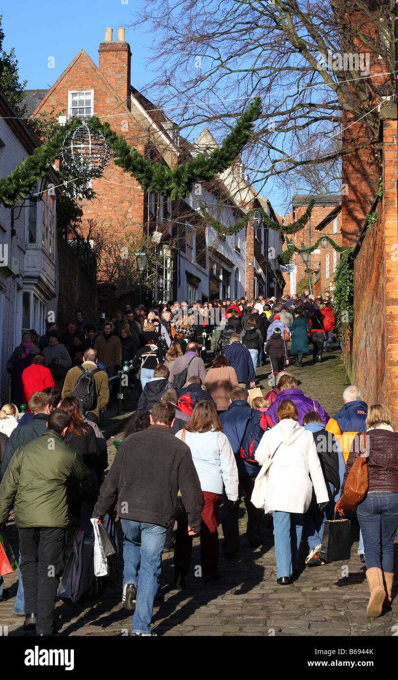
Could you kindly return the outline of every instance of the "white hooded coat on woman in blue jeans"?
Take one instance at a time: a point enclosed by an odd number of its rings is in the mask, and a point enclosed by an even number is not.
[[[312,432],[290,418],[281,420],[264,433],[254,458],[263,465],[272,455],[265,496],[268,511],[305,513],[312,485],[317,503],[329,500]]]

